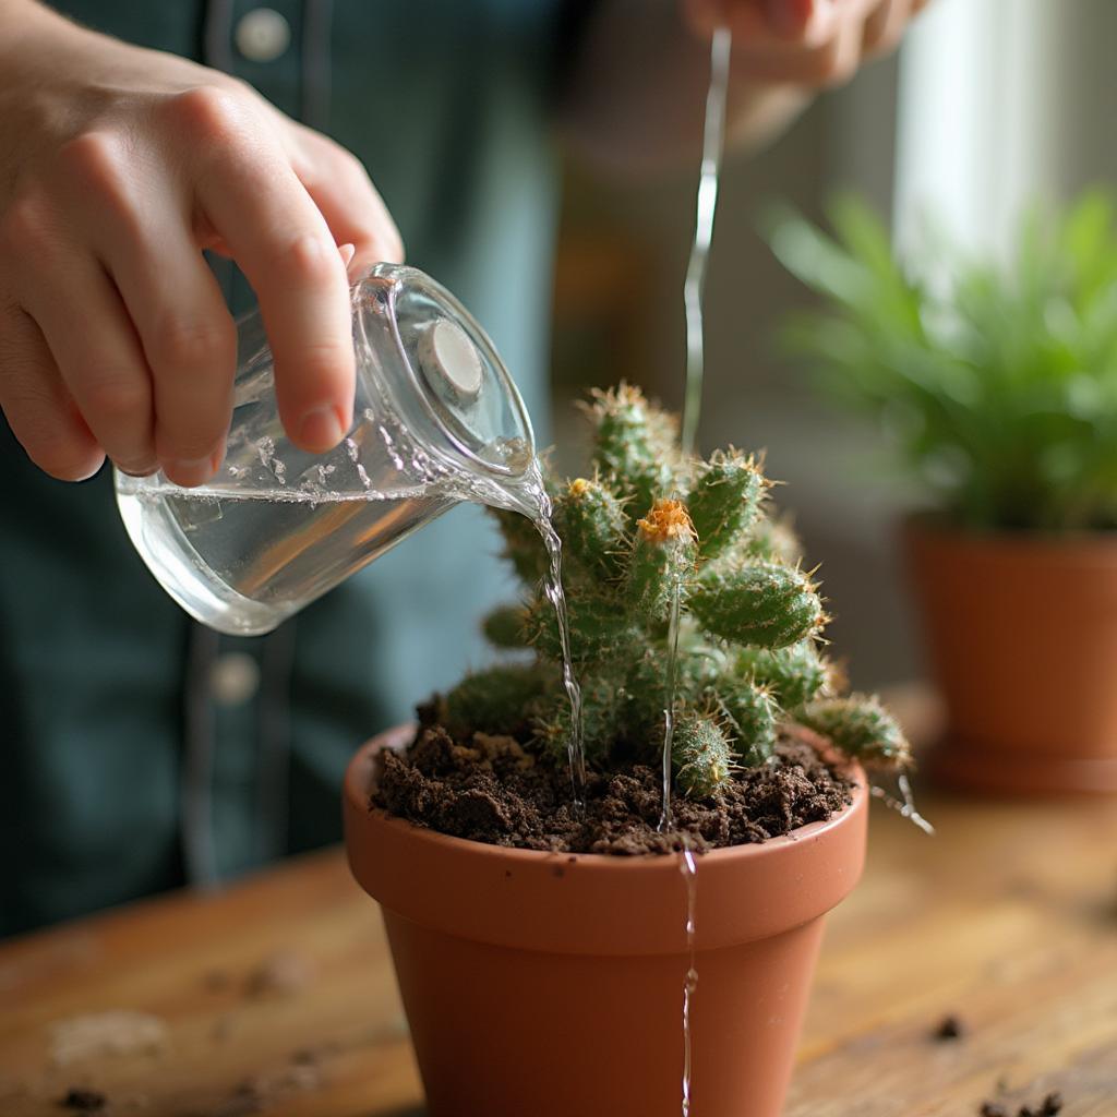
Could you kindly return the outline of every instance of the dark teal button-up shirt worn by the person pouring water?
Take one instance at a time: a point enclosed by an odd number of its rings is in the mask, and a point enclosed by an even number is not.
[[[569,13],[558,0],[269,4],[280,18],[262,25],[244,0],[58,7],[232,71],[355,152],[409,262],[486,326],[545,438],[546,117]],[[244,279],[214,267],[242,309]],[[479,663],[478,619],[512,592],[484,515],[458,508],[270,636],[218,636],[132,551],[108,469],[52,480],[2,419],[0,466],[0,934],[335,840],[353,750]]]

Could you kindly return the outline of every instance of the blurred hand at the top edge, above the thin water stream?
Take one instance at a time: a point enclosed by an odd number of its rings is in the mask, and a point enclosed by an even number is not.
[[[691,30],[733,34],[736,75],[815,88],[840,85],[894,49],[927,0],[681,0]]]

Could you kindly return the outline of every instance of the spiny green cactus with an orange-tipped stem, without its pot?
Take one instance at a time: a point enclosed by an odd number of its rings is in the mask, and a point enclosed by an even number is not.
[[[735,768],[764,763],[789,719],[849,755],[904,766],[907,744],[879,703],[839,697],[838,672],[820,647],[827,618],[818,588],[767,507],[770,483],[756,460],[732,449],[685,458],[674,418],[626,385],[595,393],[586,414],[592,477],[547,484],[589,763],[658,762],[678,600],[671,758],[680,792],[710,795]],[[496,647],[531,655],[467,677],[441,697],[438,716],[458,737],[509,734],[563,763],[570,706],[541,584],[544,551],[524,517],[496,515],[526,593],[493,613],[485,631]]]

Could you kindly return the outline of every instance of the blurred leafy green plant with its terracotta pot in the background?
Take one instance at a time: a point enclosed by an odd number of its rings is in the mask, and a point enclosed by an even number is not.
[[[936,510],[903,533],[945,698],[930,757],[997,791],[1117,791],[1117,235],[1111,201],[1022,221],[1003,266],[901,266],[862,204],[771,244],[824,300],[790,336]],[[918,266],[916,266],[918,265]]]

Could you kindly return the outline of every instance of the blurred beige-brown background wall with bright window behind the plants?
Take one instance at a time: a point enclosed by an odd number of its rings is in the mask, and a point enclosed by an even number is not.
[[[871,688],[919,672],[896,554],[913,503],[873,432],[810,390],[780,353],[777,324],[810,296],[768,252],[766,202],[820,218],[857,191],[901,244],[932,213],[953,236],[1000,251],[1031,198],[1068,197],[1117,170],[1113,142],[1117,0],[934,0],[899,58],[820,96],[774,144],[731,157],[706,287],[706,395],[699,446],[766,449],[776,498],[793,509],[834,623],[833,651]],[[566,173],[555,276],[555,459],[579,468],[570,405],[621,378],[681,405],[681,286],[697,168],[651,184]]]

